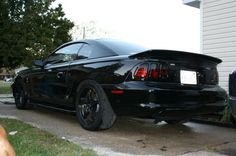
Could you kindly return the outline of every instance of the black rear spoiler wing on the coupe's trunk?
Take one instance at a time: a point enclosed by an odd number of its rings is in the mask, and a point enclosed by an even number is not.
[[[210,64],[219,64],[222,62],[221,59],[218,59],[216,57],[174,50],[148,50],[134,55],[130,55],[129,58],[173,60],[192,63],[208,62]]]

